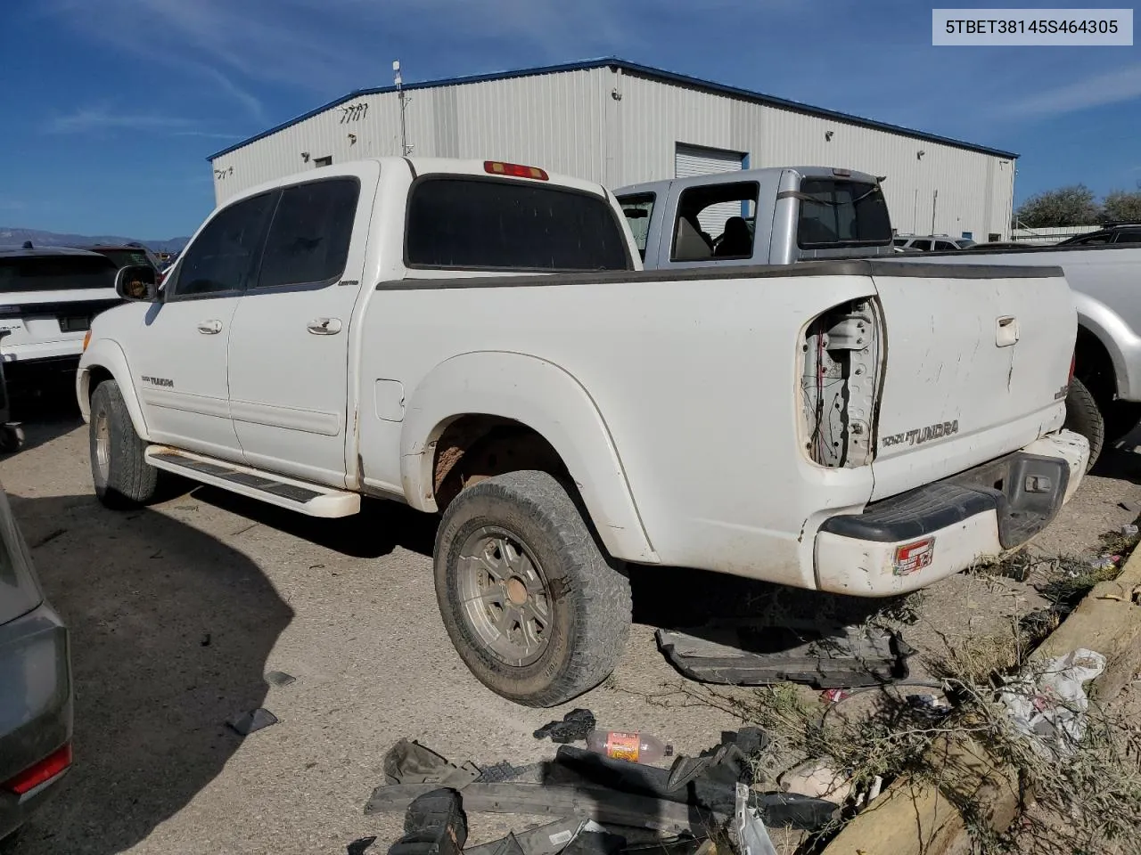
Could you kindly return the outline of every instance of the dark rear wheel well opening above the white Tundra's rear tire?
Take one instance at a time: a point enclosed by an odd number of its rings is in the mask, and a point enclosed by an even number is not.
[[[435,442],[432,488],[443,511],[466,487],[521,470],[547,472],[572,496],[574,482],[558,451],[521,422],[488,415],[466,415],[451,422]]]

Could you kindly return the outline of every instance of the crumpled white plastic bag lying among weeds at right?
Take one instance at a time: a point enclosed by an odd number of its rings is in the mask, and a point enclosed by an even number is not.
[[[1039,755],[1068,757],[1085,734],[1090,701],[1083,684],[1106,669],[1106,657],[1079,648],[1036,665],[1008,683],[1000,697]]]

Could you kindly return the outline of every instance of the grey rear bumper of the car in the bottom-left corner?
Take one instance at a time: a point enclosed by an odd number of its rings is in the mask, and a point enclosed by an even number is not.
[[[0,782],[37,765],[72,738],[67,629],[47,604],[0,626]],[[56,789],[66,771],[17,796],[0,788],[0,839]]]

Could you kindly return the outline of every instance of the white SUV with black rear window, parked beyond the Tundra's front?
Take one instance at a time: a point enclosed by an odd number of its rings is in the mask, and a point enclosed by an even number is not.
[[[114,262],[84,250],[0,250],[0,343],[9,385],[66,377],[91,318],[122,302]]]

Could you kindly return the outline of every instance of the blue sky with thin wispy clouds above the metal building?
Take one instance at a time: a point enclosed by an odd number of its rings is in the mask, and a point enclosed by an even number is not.
[[[1018,152],[1019,199],[1141,181],[1141,48],[936,48],[931,7],[914,0],[7,0],[5,11],[0,226],[189,234],[213,203],[207,155],[390,84],[394,58],[412,82],[616,55]]]

